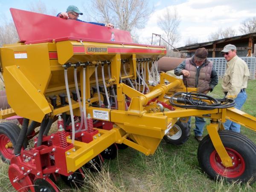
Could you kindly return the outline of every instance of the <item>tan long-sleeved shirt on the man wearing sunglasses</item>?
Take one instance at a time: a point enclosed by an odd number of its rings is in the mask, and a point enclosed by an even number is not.
[[[250,72],[247,64],[237,55],[227,62],[222,79],[222,90],[227,96],[236,97],[241,89],[247,88]]]

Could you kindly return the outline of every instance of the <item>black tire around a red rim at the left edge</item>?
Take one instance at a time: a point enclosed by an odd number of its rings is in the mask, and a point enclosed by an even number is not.
[[[5,135],[12,142],[13,148],[16,145],[17,139],[20,134],[20,127],[13,122],[2,122],[0,123],[0,134]],[[27,140],[25,139],[23,143],[23,148],[26,148],[28,145]],[[14,150],[13,150],[14,151]],[[14,155],[14,154],[13,154]],[[6,157],[3,151],[0,150],[0,156],[3,162],[10,164],[10,158]]]

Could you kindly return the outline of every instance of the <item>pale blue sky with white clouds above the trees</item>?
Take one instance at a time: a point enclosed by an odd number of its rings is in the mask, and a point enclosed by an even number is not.
[[[32,0],[0,0],[0,25],[5,20],[11,20],[9,8],[29,10],[29,5],[35,1]],[[63,12],[67,6],[74,4],[84,11],[84,6],[88,7],[88,0],[42,0],[47,9],[55,9],[56,14]],[[149,17],[144,29],[137,30],[140,41],[149,44],[151,34],[163,34],[157,26],[157,18],[163,14],[166,8],[173,10],[174,7],[181,18],[178,31],[181,40],[176,47],[185,45],[188,38],[196,39],[199,42],[208,41],[209,34],[217,31],[219,28],[233,27],[239,29],[242,20],[256,17],[255,0],[148,0],[150,6],[154,6],[154,12]],[[53,13],[55,14],[55,12]],[[3,19],[4,18],[4,19]],[[86,17],[79,17],[86,20]],[[237,32],[236,35],[240,35]]]

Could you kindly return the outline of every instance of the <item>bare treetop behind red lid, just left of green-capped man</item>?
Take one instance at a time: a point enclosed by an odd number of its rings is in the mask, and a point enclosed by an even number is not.
[[[47,8],[46,5],[44,4],[44,2],[42,2],[41,0],[34,1],[34,2],[30,3],[29,11],[36,12],[36,13],[42,13],[42,14],[46,14],[46,15],[54,15],[54,16],[57,15],[56,9]]]

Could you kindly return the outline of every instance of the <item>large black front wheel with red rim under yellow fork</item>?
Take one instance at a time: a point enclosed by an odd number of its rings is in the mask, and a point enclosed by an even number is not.
[[[230,183],[234,181],[242,183],[255,182],[256,145],[244,135],[233,131],[219,131],[218,134],[230,157],[232,156],[231,150],[233,150],[233,152],[235,151],[234,154],[238,154],[241,156],[241,159],[234,158],[233,162],[235,162],[236,160],[235,165],[231,168],[225,169],[225,167],[222,166],[221,162],[218,162],[218,155],[215,154],[215,148],[209,135],[207,135],[198,146],[198,162],[201,166],[201,169],[214,180],[219,180],[223,178]],[[215,155],[211,156],[211,154]],[[216,170],[219,168],[216,169],[215,165],[217,167],[221,167],[221,169],[224,169],[225,174],[229,175],[221,174],[221,172],[218,172],[220,173],[218,174]],[[242,169],[242,167],[244,167],[244,169]]]

